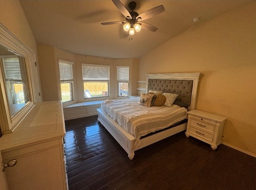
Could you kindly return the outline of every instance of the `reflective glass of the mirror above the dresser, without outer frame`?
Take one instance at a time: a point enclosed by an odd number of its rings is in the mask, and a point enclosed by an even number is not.
[[[30,102],[25,59],[0,46],[0,62],[6,98],[13,118]]]

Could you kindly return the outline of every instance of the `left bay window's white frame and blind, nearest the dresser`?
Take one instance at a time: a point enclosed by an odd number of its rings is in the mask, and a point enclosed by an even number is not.
[[[61,93],[61,99],[62,99],[61,84],[64,84],[64,83],[69,83],[70,84],[70,100],[65,101],[65,102],[62,100],[62,104],[66,104],[66,103],[74,101],[74,75],[73,75],[73,65],[74,65],[74,63],[70,62],[70,61],[62,60],[62,59],[59,59],[58,63],[59,63],[59,72],[60,72],[60,93]],[[60,68],[61,64],[63,64],[63,65],[66,64],[68,66],[71,66],[71,70],[68,67],[64,68],[68,73],[65,73],[63,75],[62,74],[62,70],[60,70],[61,69]],[[70,72],[71,72],[71,74],[70,74]]]

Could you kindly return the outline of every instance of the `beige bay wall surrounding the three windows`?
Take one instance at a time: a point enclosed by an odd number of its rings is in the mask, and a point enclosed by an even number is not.
[[[82,63],[102,64],[110,66],[110,97],[117,97],[116,66],[130,66],[129,95],[137,94],[138,59],[110,59],[94,56],[72,54],[52,46],[38,44],[38,60],[40,63],[40,77],[44,101],[61,100],[60,74],[58,60],[74,62],[74,101],[65,104],[68,106],[75,102],[105,100],[106,98],[84,99],[82,82]]]

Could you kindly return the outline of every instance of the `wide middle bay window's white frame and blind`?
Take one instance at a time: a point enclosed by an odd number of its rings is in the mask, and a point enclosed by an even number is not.
[[[84,100],[92,99],[92,98],[110,97],[110,65],[88,64],[88,63],[82,63],[81,65],[82,65],[82,80],[83,80]],[[88,66],[88,68],[90,68],[90,70],[88,70],[88,73],[86,73],[86,67],[87,66]],[[99,74],[99,68],[102,69],[101,74]],[[106,72],[106,68],[108,68],[107,72]],[[95,75],[95,73],[97,73],[97,74]],[[88,77],[88,74],[91,74],[90,77]],[[84,83],[86,83],[86,82],[107,82],[107,86],[108,86],[107,96],[102,95],[102,96],[86,97],[85,96],[85,93],[86,93],[85,91],[86,90],[84,89]]]

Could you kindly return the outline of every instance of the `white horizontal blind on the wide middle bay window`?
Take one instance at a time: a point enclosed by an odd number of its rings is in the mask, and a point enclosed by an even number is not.
[[[106,65],[82,64],[83,80],[106,81],[109,80],[109,68]]]

